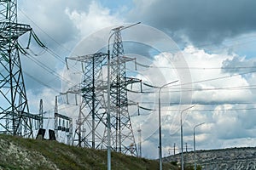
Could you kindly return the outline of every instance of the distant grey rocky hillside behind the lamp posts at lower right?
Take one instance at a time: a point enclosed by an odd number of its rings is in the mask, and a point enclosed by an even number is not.
[[[186,165],[194,165],[194,152],[183,154]],[[180,154],[168,156],[166,162],[177,161],[180,164]],[[196,151],[197,165],[201,169],[256,169],[256,148],[231,148],[224,150],[198,150]]]

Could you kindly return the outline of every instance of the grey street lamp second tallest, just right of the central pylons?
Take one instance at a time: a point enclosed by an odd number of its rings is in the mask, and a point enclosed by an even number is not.
[[[178,81],[178,80],[177,80]],[[177,81],[174,81],[174,82],[177,82]],[[162,135],[161,135],[161,99],[160,99],[160,93],[161,93],[161,90],[162,88],[165,88],[166,86],[174,83],[174,82],[169,82],[169,83],[166,83],[164,85],[162,85],[159,89],[159,92],[158,92],[158,106],[159,106],[159,111],[158,111],[158,116],[159,116],[159,167],[160,167],[160,170],[162,170]]]

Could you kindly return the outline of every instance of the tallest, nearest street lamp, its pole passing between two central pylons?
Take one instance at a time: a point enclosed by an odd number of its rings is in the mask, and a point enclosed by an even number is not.
[[[132,24],[131,26],[136,26],[141,22],[137,22]],[[130,28],[131,26],[120,26],[119,31],[125,30],[126,28]],[[113,29],[112,29],[113,31]],[[107,107],[107,127],[108,127],[108,170],[111,170],[111,144],[110,144],[110,50],[109,50],[109,42],[111,37],[113,37],[115,31],[108,37],[108,107]]]

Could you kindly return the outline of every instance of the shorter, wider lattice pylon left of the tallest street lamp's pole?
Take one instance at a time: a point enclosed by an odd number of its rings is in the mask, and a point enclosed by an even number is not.
[[[104,100],[107,84],[102,80],[102,64],[106,62],[107,54],[89,54],[68,59],[80,61],[84,74],[83,81],[67,91],[67,94],[80,95],[82,99],[73,144],[102,149],[107,146],[107,141],[103,139],[107,121]]]

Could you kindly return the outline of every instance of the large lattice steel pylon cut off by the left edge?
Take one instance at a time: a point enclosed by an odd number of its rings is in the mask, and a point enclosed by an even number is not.
[[[0,133],[32,135],[18,44],[27,31],[32,28],[17,23],[16,0],[0,0]]]

